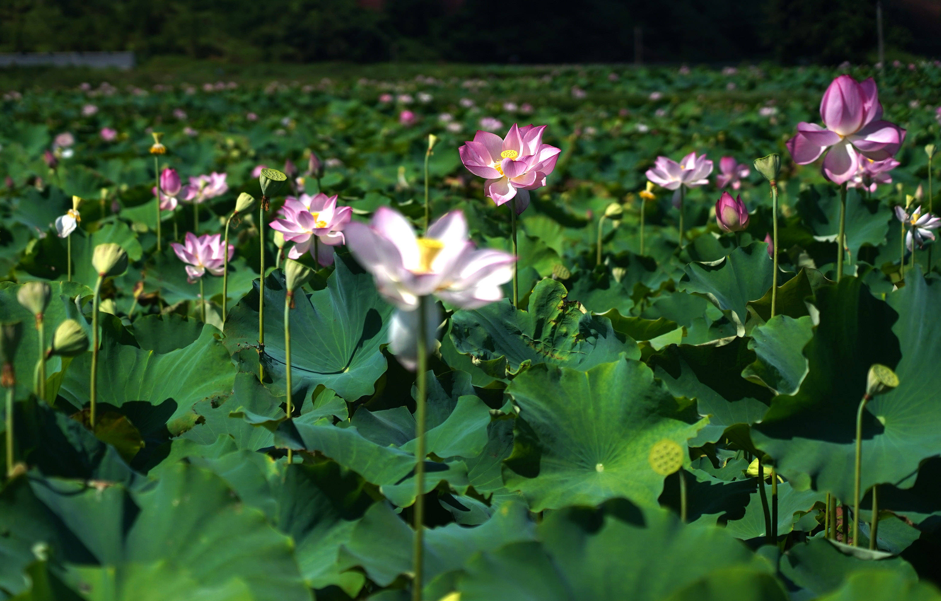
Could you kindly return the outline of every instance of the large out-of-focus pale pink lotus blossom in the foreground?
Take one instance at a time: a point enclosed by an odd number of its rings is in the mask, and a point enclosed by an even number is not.
[[[388,207],[379,207],[370,225],[352,222],[343,233],[379,293],[403,311],[414,311],[429,294],[460,308],[483,307],[500,300],[501,284],[513,278],[516,259],[500,250],[477,250],[460,211],[441,216],[423,238]]]

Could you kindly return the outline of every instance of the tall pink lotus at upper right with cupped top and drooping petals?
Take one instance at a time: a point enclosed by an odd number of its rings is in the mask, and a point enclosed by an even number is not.
[[[876,84],[870,77],[860,83],[849,75],[833,80],[821,99],[821,119],[826,127],[804,121],[788,140],[794,163],[813,163],[824,150],[823,175],[834,183],[850,180],[859,169],[860,155],[884,161],[899,151],[905,130],[882,120]],[[832,148],[831,148],[832,147]]]

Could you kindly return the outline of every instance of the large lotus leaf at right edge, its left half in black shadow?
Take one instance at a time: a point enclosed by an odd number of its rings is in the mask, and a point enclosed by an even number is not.
[[[820,325],[804,350],[804,383],[793,396],[775,397],[753,428],[756,445],[801,488],[814,482],[818,490],[852,498],[856,411],[873,363],[898,364],[901,386],[864,413],[863,490],[904,481],[941,449],[941,406],[933,392],[941,326],[929,313],[941,301],[941,288],[916,275],[889,298],[901,313],[894,327],[896,312],[854,277],[818,291]]]

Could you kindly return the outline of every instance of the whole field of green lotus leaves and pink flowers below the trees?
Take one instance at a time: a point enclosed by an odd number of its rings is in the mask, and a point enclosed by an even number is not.
[[[941,600],[941,64],[351,73],[0,90],[0,599]]]

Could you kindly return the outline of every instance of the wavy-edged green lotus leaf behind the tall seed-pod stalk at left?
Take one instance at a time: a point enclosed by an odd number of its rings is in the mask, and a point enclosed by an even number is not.
[[[189,413],[205,399],[228,397],[235,377],[228,351],[219,340],[215,326],[204,325],[192,344],[163,355],[120,344],[108,328],[103,328],[98,356],[98,402],[116,407],[129,401],[160,404],[167,399],[177,403],[173,418]],[[75,407],[88,404],[91,354],[72,359],[59,390]]]

